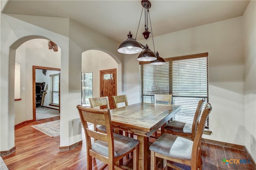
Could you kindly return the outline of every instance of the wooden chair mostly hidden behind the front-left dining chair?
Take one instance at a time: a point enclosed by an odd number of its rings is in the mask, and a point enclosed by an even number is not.
[[[98,106],[106,106],[107,109],[110,109],[108,96],[100,97],[100,98],[89,98],[89,102],[90,102],[91,108],[95,108]],[[105,133],[106,127],[94,124],[94,130],[100,131],[101,133]]]

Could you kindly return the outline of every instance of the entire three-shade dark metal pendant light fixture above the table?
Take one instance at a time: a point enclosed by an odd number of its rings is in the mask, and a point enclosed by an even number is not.
[[[138,41],[136,41],[138,29],[140,26],[140,21],[139,21],[135,39],[132,38],[132,34],[130,31],[128,34],[128,39],[126,39],[119,45],[118,52],[124,53],[124,54],[140,53],[138,55],[138,59],[137,59],[138,61],[155,61],[154,63],[157,63],[157,64],[154,64],[154,65],[164,64],[165,61],[162,57],[160,57],[161,59],[157,60],[159,55],[158,55],[158,53],[155,52],[153,33],[150,33],[150,31],[148,31],[148,18],[150,21],[149,8],[151,8],[151,3],[149,2],[149,0],[142,0],[141,5],[142,5],[142,12],[144,10],[144,15],[145,15],[145,31],[142,33],[142,35],[143,35],[144,39],[146,39],[146,40],[149,38],[150,35],[152,35],[154,52],[149,49],[147,44],[145,46],[145,45],[142,45],[141,43],[139,43]],[[140,20],[141,20],[142,12],[140,15]],[[151,21],[150,21],[150,28],[151,28],[151,32],[152,32]],[[144,49],[144,51],[143,51],[143,49]]]

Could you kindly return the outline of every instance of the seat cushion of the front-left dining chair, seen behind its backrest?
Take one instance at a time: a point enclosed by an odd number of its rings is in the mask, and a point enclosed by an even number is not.
[[[130,137],[119,135],[117,133],[113,133],[113,136],[114,136],[114,156],[115,157],[128,152],[129,150],[135,148],[136,145],[139,144],[138,140]],[[108,156],[108,143],[97,140],[92,144],[92,150],[104,156]]]

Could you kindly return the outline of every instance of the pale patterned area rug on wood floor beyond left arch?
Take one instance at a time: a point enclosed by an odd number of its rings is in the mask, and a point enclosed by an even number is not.
[[[41,123],[38,125],[33,125],[31,127],[34,127],[38,131],[41,131],[42,133],[50,137],[56,137],[60,135],[60,120]]]

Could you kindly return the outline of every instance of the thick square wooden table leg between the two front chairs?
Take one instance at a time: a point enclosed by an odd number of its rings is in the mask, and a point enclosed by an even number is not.
[[[147,169],[147,137],[137,135],[139,143],[139,170]]]

